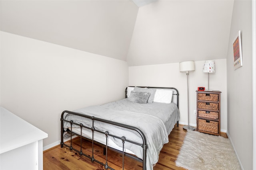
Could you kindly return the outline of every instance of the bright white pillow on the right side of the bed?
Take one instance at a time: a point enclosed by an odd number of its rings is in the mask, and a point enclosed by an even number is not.
[[[154,102],[171,103],[172,102],[172,90],[160,90],[156,89]]]

